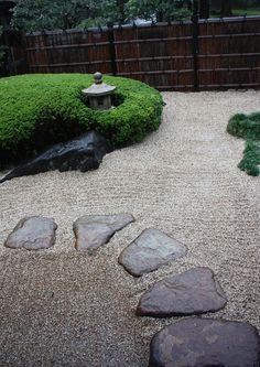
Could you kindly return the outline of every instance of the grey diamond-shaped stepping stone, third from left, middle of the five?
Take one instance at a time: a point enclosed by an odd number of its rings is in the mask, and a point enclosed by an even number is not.
[[[118,261],[134,277],[156,270],[185,256],[186,246],[153,228],[144,229],[120,255]]]

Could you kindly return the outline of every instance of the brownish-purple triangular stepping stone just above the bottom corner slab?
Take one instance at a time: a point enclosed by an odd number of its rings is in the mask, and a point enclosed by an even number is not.
[[[165,317],[216,312],[227,299],[214,272],[195,268],[155,283],[139,302],[137,314]]]

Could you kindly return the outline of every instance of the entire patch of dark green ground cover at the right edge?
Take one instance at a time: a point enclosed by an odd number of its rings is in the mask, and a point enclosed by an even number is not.
[[[235,115],[228,122],[227,131],[246,138],[243,158],[238,164],[241,171],[252,176],[260,174],[260,112]]]

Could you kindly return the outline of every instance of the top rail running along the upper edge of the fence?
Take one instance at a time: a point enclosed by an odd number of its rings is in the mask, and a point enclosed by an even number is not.
[[[247,20],[250,21],[260,21],[260,15],[241,15],[241,17],[230,17],[230,18],[209,18],[209,19],[199,19],[199,24],[205,23],[235,23],[235,22],[245,22]],[[131,24],[123,24],[123,25],[113,25],[113,30],[128,30],[132,28],[138,29],[145,29],[151,26],[169,26],[169,25],[191,25],[193,24],[192,20],[187,21],[175,21],[175,22],[162,22],[162,23],[154,23],[152,21],[148,21],[145,23],[131,23]],[[39,35],[57,35],[57,34],[74,34],[74,33],[86,33],[86,32],[93,32],[93,33],[102,33],[108,32],[109,26],[96,26],[96,28],[85,28],[85,29],[69,29],[69,30],[42,30],[36,32],[28,32],[25,35],[28,37],[30,36],[39,36]]]

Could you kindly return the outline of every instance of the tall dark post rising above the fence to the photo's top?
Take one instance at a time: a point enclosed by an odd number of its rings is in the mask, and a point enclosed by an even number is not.
[[[198,1],[193,1],[193,87],[194,91],[199,90],[198,84],[198,33],[199,33],[199,23],[198,23]]]

